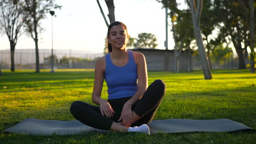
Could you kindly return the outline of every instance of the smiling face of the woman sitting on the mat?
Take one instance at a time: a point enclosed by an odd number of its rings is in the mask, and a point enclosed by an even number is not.
[[[113,49],[125,49],[128,39],[129,35],[122,25],[110,28],[108,41],[112,45]]]

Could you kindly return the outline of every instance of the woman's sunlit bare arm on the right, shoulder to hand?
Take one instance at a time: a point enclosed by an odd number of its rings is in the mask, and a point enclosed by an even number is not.
[[[148,87],[148,73],[147,73],[147,64],[145,57],[142,53],[134,52],[135,63],[137,65],[137,75],[138,75],[138,91],[133,95],[131,99],[126,101],[124,104],[121,116],[118,121],[122,121],[123,125],[130,127],[133,119],[133,112],[131,110],[132,105],[142,97],[143,93]]]

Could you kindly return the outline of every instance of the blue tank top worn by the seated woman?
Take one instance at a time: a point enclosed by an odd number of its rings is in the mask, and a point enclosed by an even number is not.
[[[129,61],[124,67],[115,66],[109,53],[106,55],[104,79],[108,86],[108,99],[132,97],[138,91],[137,65],[128,50]]]

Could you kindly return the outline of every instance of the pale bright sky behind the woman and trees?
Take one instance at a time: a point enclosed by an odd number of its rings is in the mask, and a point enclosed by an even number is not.
[[[99,0],[107,17],[108,10],[104,0]],[[62,5],[61,10],[54,10],[53,48],[58,50],[84,50],[92,53],[103,52],[107,26],[104,22],[96,0],[56,0]],[[127,26],[130,37],[137,38],[139,33],[152,33],[156,36],[157,49],[166,49],[165,41],[165,9],[155,0],[115,0],[115,20]],[[51,49],[51,20],[48,17],[40,21],[45,29],[39,35],[40,49]],[[108,20],[108,17],[107,17]],[[170,21],[170,20],[168,20]],[[169,23],[170,25],[170,23]],[[173,40],[168,27],[168,49],[173,49]],[[0,36],[0,50],[10,49],[7,35]],[[23,34],[16,49],[34,49],[34,41],[28,34]]]

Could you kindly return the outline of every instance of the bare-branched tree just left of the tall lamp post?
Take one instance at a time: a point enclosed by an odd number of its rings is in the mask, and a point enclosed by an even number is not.
[[[46,18],[50,9],[60,9],[61,6],[54,3],[54,0],[25,0],[24,4],[24,20],[26,32],[30,34],[34,40],[36,48],[36,73],[40,73],[39,69],[39,51],[38,51],[38,35],[43,28],[40,21]]]

